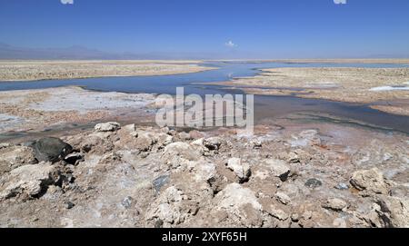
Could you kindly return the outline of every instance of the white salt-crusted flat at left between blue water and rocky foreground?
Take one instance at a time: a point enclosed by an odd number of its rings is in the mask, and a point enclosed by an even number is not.
[[[154,94],[93,92],[74,86],[0,92],[0,133],[38,132],[58,124],[125,120],[133,115],[142,119],[154,102]]]

